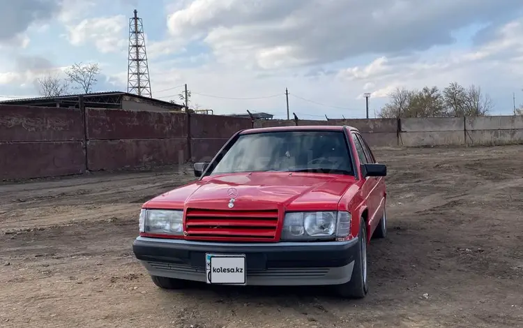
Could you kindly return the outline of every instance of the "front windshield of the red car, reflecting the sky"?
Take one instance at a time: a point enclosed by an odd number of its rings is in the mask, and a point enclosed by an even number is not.
[[[354,175],[342,131],[240,135],[211,174],[261,171]]]

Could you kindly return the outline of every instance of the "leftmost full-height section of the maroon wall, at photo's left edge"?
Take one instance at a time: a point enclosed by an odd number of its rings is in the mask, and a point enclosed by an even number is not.
[[[83,136],[80,110],[0,106],[0,179],[84,172]]]

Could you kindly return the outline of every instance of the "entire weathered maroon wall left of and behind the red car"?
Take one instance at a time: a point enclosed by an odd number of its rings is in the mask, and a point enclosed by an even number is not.
[[[212,158],[250,119],[137,110],[0,105],[0,180]],[[84,126],[84,121],[86,122]],[[190,156],[190,147],[194,149]]]

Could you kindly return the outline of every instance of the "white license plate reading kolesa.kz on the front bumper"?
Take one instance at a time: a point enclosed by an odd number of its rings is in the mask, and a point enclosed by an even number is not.
[[[205,255],[207,283],[220,285],[245,285],[247,272],[245,254]]]

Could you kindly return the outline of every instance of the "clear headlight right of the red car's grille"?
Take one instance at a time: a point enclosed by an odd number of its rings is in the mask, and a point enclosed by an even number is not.
[[[351,214],[345,211],[291,212],[283,219],[282,240],[347,237]]]

